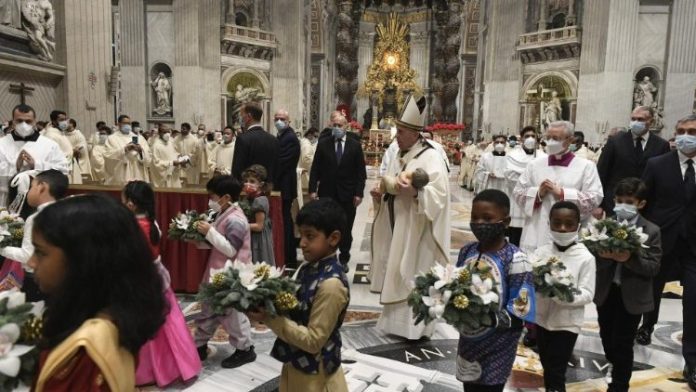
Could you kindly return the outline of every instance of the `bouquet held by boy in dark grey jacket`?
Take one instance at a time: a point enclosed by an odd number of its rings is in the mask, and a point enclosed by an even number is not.
[[[643,248],[647,248],[644,244],[648,235],[643,233],[642,227],[618,222],[611,218],[595,222],[589,229],[582,230],[580,236],[583,244],[593,254],[604,251],[628,251],[631,254],[637,254]]]

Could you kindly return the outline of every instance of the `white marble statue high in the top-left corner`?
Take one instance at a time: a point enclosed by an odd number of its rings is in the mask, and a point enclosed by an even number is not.
[[[23,0],[22,16],[22,28],[29,36],[29,46],[39,59],[51,61],[56,50],[53,5],[49,0]]]

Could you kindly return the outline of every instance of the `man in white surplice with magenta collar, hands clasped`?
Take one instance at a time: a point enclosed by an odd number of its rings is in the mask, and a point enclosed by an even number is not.
[[[573,130],[567,121],[551,123],[546,133],[549,156],[530,162],[515,186],[515,201],[526,216],[520,248],[527,253],[549,242],[549,212],[554,203],[577,204],[586,221],[604,197],[595,164],[568,151]]]

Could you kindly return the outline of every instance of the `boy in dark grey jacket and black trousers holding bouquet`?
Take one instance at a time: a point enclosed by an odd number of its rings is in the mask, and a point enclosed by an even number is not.
[[[614,190],[616,219],[643,229],[648,239],[643,251],[600,253],[594,302],[597,304],[599,336],[607,361],[612,365],[609,391],[628,391],[633,368],[633,340],[643,313],[654,309],[652,279],[660,270],[660,228],[643,218],[647,187],[638,178],[625,178]]]

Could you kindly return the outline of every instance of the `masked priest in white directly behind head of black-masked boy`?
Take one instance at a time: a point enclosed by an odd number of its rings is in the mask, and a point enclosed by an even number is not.
[[[507,192],[507,180],[505,180],[505,168],[507,167],[506,145],[506,137],[498,135],[493,139],[493,151],[485,152],[481,155],[481,159],[474,170],[475,193],[486,189],[497,189]]]

